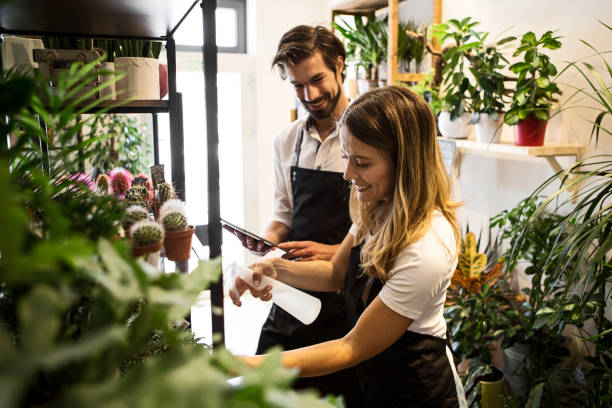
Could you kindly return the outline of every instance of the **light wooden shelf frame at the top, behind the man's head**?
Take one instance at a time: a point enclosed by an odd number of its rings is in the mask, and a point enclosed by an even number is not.
[[[397,58],[397,39],[398,39],[398,4],[402,0],[343,0],[334,4],[331,10],[331,18],[334,21],[337,15],[368,15],[378,9],[389,8],[389,37],[387,49],[387,80],[389,84],[398,81],[418,82],[425,79],[425,74],[420,73],[401,73]],[[432,0],[432,23],[442,22],[442,0]],[[433,66],[434,64],[432,64]]]

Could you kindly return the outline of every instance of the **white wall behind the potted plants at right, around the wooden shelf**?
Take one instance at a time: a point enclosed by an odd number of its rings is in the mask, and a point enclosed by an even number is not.
[[[541,35],[547,30],[556,30],[556,34],[562,36],[563,46],[548,54],[559,70],[566,66],[567,61],[575,61],[592,54],[592,51],[579,41],[580,39],[588,41],[599,50],[612,49],[610,47],[612,33],[597,22],[601,20],[608,25],[612,22],[612,3],[609,0],[444,1],[443,21],[467,16],[480,21],[479,30],[489,31],[491,36],[502,31],[504,31],[503,36],[520,37],[527,31]],[[601,67],[601,62],[596,59],[591,58],[589,61]],[[572,94],[571,86],[585,86],[574,70],[564,74],[559,82],[564,91],[561,103],[566,102]],[[586,101],[576,100],[573,106],[585,103]],[[589,109],[569,109],[566,106],[566,109],[549,124],[546,140],[588,144],[591,125],[581,116],[593,119],[595,115]],[[608,122],[608,129],[610,125],[612,123]],[[505,126],[502,138],[512,139],[512,137],[512,129]],[[589,153],[593,153],[594,150],[594,144],[591,144]],[[612,138],[603,137],[597,152],[612,152]],[[573,163],[573,158],[561,158],[559,162],[562,166],[567,166]],[[462,217],[469,220],[471,229],[477,230],[481,223],[488,223],[489,216],[513,207],[553,173],[544,159],[516,160],[508,156],[494,157],[468,153],[461,163],[459,179],[454,180],[458,198],[465,202]]]

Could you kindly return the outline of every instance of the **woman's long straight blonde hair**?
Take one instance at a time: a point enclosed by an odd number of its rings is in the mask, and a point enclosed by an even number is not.
[[[387,153],[395,168],[390,216],[361,251],[365,273],[385,282],[400,251],[421,239],[438,210],[455,233],[456,254],[461,245],[450,182],[436,139],[431,108],[405,87],[379,88],[355,99],[339,121],[340,132]],[[375,223],[381,203],[362,203],[351,189],[351,219],[357,226],[356,243],[362,242]],[[451,252],[453,253],[453,252]]]

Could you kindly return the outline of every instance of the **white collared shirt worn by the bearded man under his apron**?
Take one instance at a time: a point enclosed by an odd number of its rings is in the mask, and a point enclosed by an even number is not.
[[[296,120],[274,138],[274,212],[271,221],[280,221],[288,227],[293,224],[293,192],[289,171],[293,165],[295,144],[307,119],[308,116]],[[317,129],[310,126],[304,132],[298,166],[344,172],[338,131],[331,133],[321,143]]]

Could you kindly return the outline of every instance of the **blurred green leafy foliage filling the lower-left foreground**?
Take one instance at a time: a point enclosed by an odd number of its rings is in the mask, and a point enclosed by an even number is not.
[[[108,241],[122,203],[65,177],[79,149],[93,154],[90,141],[76,141],[87,97],[70,95],[94,66],[71,66],[55,90],[40,77],[0,74],[0,135],[12,135],[0,144],[0,225],[11,231],[0,234],[2,405],[332,406],[286,391],[295,373],[278,355],[253,370],[169,327],[218,279],[219,260],[156,274],[124,240]],[[51,137],[59,149],[40,149]]]

